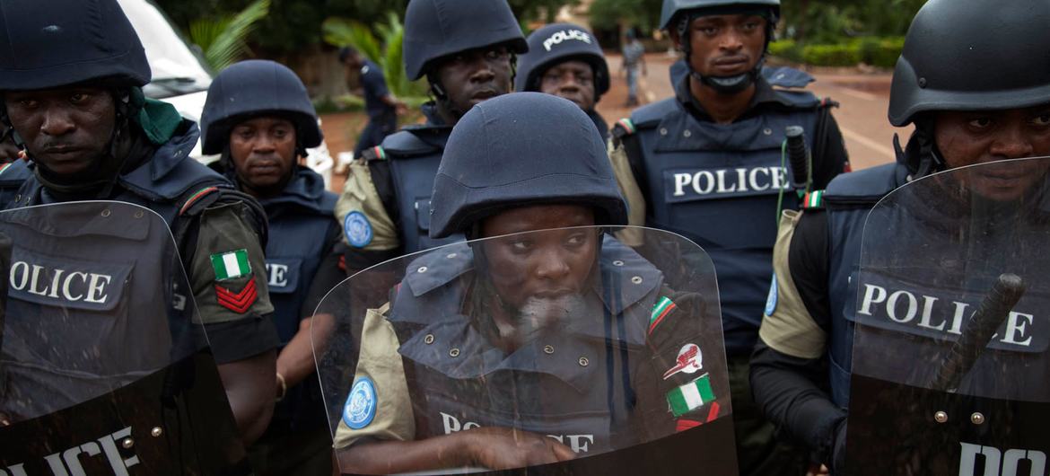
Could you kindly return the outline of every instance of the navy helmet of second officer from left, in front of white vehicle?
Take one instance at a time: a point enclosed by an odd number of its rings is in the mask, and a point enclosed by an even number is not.
[[[204,153],[220,153],[238,122],[258,116],[280,116],[295,124],[302,147],[320,145],[317,112],[307,87],[287,66],[268,60],[235,63],[220,73],[208,88],[201,116]]]

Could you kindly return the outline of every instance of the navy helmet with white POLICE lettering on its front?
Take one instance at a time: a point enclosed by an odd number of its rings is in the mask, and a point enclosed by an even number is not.
[[[609,64],[587,28],[572,23],[552,23],[528,36],[528,53],[518,57],[514,89],[540,90],[543,74],[552,66],[570,60],[584,61],[594,70],[595,99],[609,90]]]

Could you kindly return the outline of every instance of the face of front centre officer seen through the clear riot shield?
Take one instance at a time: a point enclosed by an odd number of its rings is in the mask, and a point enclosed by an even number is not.
[[[520,312],[519,326],[539,330],[579,307],[597,258],[594,212],[580,205],[514,208],[482,223],[489,275],[504,304]],[[570,229],[566,229],[570,228]],[[523,233],[534,230],[546,230]],[[519,233],[519,234],[511,234]]]

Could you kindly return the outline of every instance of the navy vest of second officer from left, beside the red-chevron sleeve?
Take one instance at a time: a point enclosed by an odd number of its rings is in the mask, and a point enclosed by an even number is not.
[[[259,201],[270,223],[267,287],[281,346],[298,332],[310,284],[329,251],[326,237],[337,226],[332,219],[335,202],[335,193],[324,189],[324,180],[306,167],[299,167],[280,195]]]

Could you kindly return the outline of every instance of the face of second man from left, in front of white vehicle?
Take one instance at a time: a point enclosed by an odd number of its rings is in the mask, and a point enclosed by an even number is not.
[[[237,179],[250,193],[272,192],[295,165],[295,126],[273,117],[242,122],[230,130],[230,156]]]

